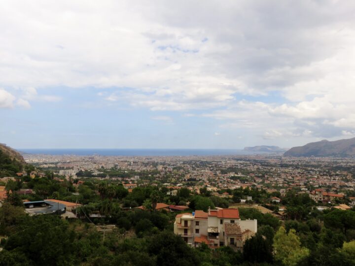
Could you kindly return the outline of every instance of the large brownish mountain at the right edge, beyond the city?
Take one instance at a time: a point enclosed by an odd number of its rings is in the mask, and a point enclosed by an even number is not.
[[[355,137],[336,141],[322,140],[293,147],[284,153],[292,157],[353,157],[355,156]]]

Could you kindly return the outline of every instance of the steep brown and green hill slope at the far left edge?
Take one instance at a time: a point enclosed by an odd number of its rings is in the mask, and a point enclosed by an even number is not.
[[[20,153],[0,144],[0,177],[15,176],[26,165]]]

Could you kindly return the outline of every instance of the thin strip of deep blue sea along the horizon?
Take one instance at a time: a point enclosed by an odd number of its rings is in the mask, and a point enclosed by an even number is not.
[[[17,149],[22,154],[79,156],[218,156],[250,155],[238,149]]]

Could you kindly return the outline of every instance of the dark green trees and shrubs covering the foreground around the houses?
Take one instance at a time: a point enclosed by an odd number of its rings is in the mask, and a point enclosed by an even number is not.
[[[26,170],[34,169],[26,166]],[[307,194],[289,191],[282,197],[286,207],[284,221],[251,206],[239,208],[241,219],[258,220],[258,232],[245,242],[241,253],[231,247],[189,247],[173,233],[177,213],[156,211],[155,206],[158,202],[189,202],[187,211],[208,211],[251,196],[253,202],[278,210],[280,205],[270,203],[270,197],[280,195],[247,188],[219,191],[230,195],[222,198],[204,187],[199,195],[182,188],[173,196],[162,185],[139,186],[129,193],[118,181],[81,181],[77,185],[77,180],[45,172],[43,177],[18,177],[6,184],[7,199],[0,207],[0,266],[355,265],[355,210],[320,212]],[[36,194],[15,193],[24,188]],[[45,198],[82,204],[76,209],[82,219],[25,214],[23,199]],[[141,205],[144,210],[135,208]],[[100,215],[93,218],[90,214]],[[103,229],[106,225],[115,228]]]

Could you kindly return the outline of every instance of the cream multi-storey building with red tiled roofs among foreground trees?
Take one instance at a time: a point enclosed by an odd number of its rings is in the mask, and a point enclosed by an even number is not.
[[[257,232],[257,220],[241,220],[238,209],[217,209],[176,216],[174,233],[191,246],[231,246],[243,251],[245,241]]]

